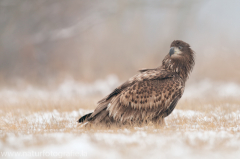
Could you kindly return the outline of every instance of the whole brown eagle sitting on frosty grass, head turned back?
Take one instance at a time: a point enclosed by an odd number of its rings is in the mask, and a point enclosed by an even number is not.
[[[182,97],[194,66],[194,52],[181,40],[171,44],[162,66],[143,69],[98,102],[79,122],[107,125],[162,123]]]

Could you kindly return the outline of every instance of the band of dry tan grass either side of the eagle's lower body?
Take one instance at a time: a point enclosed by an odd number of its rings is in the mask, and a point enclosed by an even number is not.
[[[89,112],[96,107],[96,102],[99,98],[83,98],[83,99],[62,99],[59,101],[52,100],[39,100],[39,99],[22,99],[19,103],[7,103],[3,102],[0,106],[0,114],[2,120],[0,122],[1,131],[3,134],[13,132],[13,133],[23,133],[29,134],[29,131],[33,134],[35,133],[47,133],[47,132],[71,132],[78,133],[82,132],[83,129],[79,127],[79,124],[76,123],[77,119],[83,115],[85,112]],[[181,130],[186,130],[188,126],[199,125],[199,128],[204,130],[213,130],[218,129],[221,126],[234,127],[235,124],[238,124],[235,121],[228,121],[225,119],[225,116],[239,110],[240,100],[239,99],[192,99],[192,100],[182,100],[176,107],[176,111],[195,111],[201,114],[191,116],[179,116],[178,114],[170,115],[166,121],[167,125],[163,128],[167,130],[174,130],[175,127],[181,127]],[[79,109],[86,110],[85,112],[79,111]],[[74,116],[69,115],[75,111]],[[212,113],[217,115],[213,115]],[[38,117],[44,116],[45,113],[52,114],[52,117],[48,119],[49,121],[43,121],[41,123],[32,122],[31,116],[37,114],[37,117],[33,120],[37,120]],[[57,114],[57,116],[56,116]],[[207,117],[211,118],[211,121],[204,121],[201,118]],[[61,120],[59,120],[61,118]],[[229,119],[231,120],[231,119]],[[233,120],[233,119],[232,119]],[[67,125],[73,124],[72,127],[67,127]],[[34,131],[30,129],[31,126],[37,127],[39,131]],[[153,129],[149,128],[147,131],[152,131],[156,126],[153,126]],[[114,130],[114,129],[112,129]],[[95,131],[94,128],[91,128],[87,131]],[[132,129],[134,131],[134,129]]]

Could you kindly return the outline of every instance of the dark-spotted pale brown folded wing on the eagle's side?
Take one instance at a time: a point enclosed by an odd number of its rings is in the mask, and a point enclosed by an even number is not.
[[[115,120],[123,122],[153,119],[173,103],[174,107],[168,111],[171,113],[178,100],[173,101],[181,98],[183,88],[183,81],[179,77],[136,82],[121,92],[118,100],[112,102],[107,110]]]

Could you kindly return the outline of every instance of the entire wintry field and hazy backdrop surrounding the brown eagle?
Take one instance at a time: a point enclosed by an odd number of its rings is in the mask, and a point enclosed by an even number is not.
[[[0,156],[240,158],[239,6],[0,0]],[[191,45],[195,66],[164,126],[76,122],[137,70],[160,66],[173,40]]]

